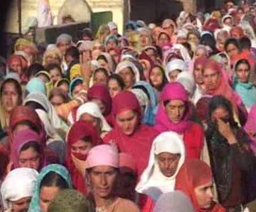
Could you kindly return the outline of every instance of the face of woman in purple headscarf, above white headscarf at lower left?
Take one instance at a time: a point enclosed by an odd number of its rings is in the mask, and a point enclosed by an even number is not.
[[[30,147],[19,153],[19,167],[39,170],[40,155],[34,148]]]

